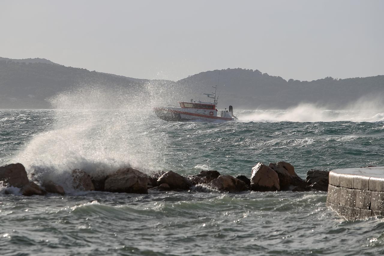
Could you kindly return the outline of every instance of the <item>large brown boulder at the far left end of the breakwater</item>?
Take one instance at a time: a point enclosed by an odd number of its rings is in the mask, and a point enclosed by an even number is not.
[[[21,163],[10,164],[0,167],[0,181],[9,186],[22,188],[29,185],[28,176]]]

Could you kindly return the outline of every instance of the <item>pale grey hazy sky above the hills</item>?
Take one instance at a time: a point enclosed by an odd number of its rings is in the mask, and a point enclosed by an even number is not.
[[[134,78],[384,75],[384,1],[4,1],[0,57]]]

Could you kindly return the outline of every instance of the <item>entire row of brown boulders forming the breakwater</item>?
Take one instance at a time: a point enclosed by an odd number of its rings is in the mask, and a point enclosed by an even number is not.
[[[108,172],[109,175],[90,176],[83,170],[71,171],[71,188],[74,191],[105,191],[111,193],[158,193],[162,191],[218,191],[238,193],[242,191],[308,191],[326,190],[318,183],[328,184],[328,172],[308,171],[307,181],[301,179],[295,168],[287,162],[270,163],[268,166],[258,163],[252,168],[251,176],[222,175],[218,171],[201,171],[197,175],[184,177],[173,171],[159,171],[147,175],[133,168],[121,168]],[[0,167],[0,182],[7,188],[19,188],[25,196],[44,195],[46,193],[65,194],[65,190],[52,180],[31,174],[31,180],[22,164],[10,164]],[[325,178],[327,180],[325,180]],[[316,185],[316,186],[314,186]],[[68,189],[68,188],[67,188]],[[12,189],[5,190],[12,193]]]

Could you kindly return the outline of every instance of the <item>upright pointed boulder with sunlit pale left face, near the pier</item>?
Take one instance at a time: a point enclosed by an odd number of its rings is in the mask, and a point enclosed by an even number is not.
[[[276,191],[280,190],[279,176],[275,171],[262,163],[252,168],[251,190]]]

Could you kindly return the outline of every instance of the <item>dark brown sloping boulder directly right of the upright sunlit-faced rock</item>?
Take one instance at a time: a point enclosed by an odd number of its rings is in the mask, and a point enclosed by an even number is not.
[[[280,190],[308,190],[308,184],[295,173],[295,168],[290,163],[281,161],[270,163],[268,167],[279,176]]]

